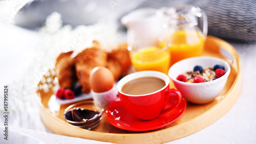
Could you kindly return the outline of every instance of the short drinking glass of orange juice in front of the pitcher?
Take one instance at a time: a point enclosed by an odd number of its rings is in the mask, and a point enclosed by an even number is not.
[[[159,41],[140,41],[128,47],[135,71],[153,70],[168,73],[170,54]]]

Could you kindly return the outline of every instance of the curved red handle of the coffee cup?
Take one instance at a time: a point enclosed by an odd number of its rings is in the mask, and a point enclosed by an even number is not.
[[[166,98],[165,100],[166,101],[168,101],[168,99],[170,98],[170,94],[175,94],[177,96],[178,100],[172,106],[164,108],[163,111],[161,112],[162,114],[166,113],[166,112],[168,112],[168,111],[170,111],[172,109],[174,109],[175,107],[177,107],[180,104],[181,100],[182,100],[182,95],[181,95],[179,90],[177,90],[177,89],[169,89],[169,90],[166,90],[166,92],[165,92],[165,98]]]

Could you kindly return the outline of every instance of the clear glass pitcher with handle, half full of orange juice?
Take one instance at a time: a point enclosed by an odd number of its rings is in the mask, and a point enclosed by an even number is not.
[[[157,15],[166,30],[164,40],[168,43],[171,66],[188,57],[202,55],[207,35],[207,17],[200,8],[187,5],[162,8]]]

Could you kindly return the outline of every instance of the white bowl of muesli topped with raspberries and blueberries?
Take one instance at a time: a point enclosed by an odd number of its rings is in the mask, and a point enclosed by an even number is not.
[[[197,104],[214,100],[225,87],[229,74],[230,66],[226,61],[210,56],[182,60],[168,71],[182,96]]]

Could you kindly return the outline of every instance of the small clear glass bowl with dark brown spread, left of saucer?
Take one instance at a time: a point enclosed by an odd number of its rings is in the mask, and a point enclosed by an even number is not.
[[[81,101],[65,109],[65,120],[79,128],[91,130],[98,126],[104,113],[103,106],[96,101]]]

